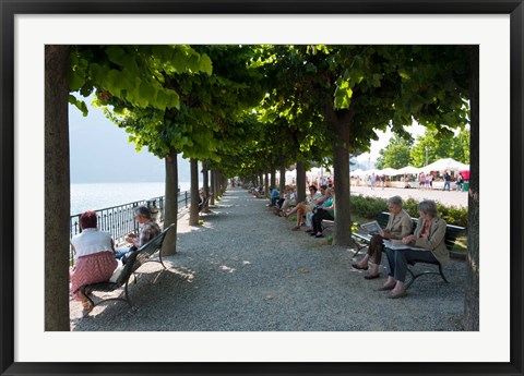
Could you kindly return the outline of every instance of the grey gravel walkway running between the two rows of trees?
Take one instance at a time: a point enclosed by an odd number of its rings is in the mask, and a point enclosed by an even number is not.
[[[385,280],[350,267],[354,250],[290,231],[267,201],[231,189],[204,225],[179,220],[178,253],[139,269],[134,308],[123,302],[83,317],[71,302],[71,329],[97,331],[463,330],[465,262],[425,276],[408,296],[385,299]],[[360,258],[361,255],[358,255]],[[383,260],[384,263],[384,260]],[[384,264],[383,264],[384,265]]]

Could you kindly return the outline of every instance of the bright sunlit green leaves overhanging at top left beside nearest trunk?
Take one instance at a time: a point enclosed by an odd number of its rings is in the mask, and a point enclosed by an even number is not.
[[[211,59],[206,54],[199,54],[184,45],[74,46],[69,88],[83,97],[95,92],[103,105],[115,96],[120,104],[165,111],[180,104],[178,93],[165,86],[166,76],[193,72],[211,74]],[[85,102],[74,96],[69,99],[87,114]]]

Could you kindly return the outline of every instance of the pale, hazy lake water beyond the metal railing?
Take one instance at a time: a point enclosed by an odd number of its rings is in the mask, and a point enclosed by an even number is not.
[[[180,182],[180,192],[191,183]],[[84,183],[71,184],[71,215],[164,196],[165,183]]]

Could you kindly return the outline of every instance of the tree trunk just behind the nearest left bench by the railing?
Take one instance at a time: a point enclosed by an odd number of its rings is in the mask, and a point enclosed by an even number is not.
[[[178,160],[177,151],[172,150],[165,158],[166,166],[166,204],[164,228],[170,223],[175,227],[169,230],[162,245],[162,255],[168,256],[177,253],[177,219],[178,219]]]

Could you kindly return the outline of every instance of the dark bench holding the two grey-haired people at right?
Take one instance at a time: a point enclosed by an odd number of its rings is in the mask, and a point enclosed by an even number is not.
[[[389,219],[390,219],[390,213],[386,213],[386,211],[382,211],[377,217],[377,221],[379,222],[379,225],[382,229],[384,229],[388,226]],[[412,226],[413,226],[412,233],[414,233],[415,228],[417,227],[417,222],[418,222],[417,218],[412,218]],[[444,242],[445,242],[445,246],[448,247],[448,251],[453,251],[456,239],[458,236],[461,236],[462,234],[464,234],[465,231],[466,231],[466,228],[461,227],[461,226],[448,225],[445,227]],[[369,235],[367,233],[361,233],[361,232],[354,232],[354,233],[352,233],[352,236],[354,238],[354,240],[355,240],[355,242],[357,243],[357,246],[358,246],[357,252],[355,253],[355,256],[356,256],[360,252],[360,250],[362,250],[362,248],[365,248],[369,245],[369,243],[371,241],[371,235]],[[410,266],[413,267],[418,263],[437,265],[438,268],[439,268],[439,271],[437,272],[437,271],[432,271],[432,270],[425,270],[425,271],[420,271],[418,274],[415,274],[412,270]],[[439,275],[444,280],[444,282],[449,283],[448,279],[444,276],[444,272],[442,271],[442,265],[439,262],[434,262],[434,263],[409,262],[407,271],[409,272],[412,278],[406,283],[406,289],[408,289],[417,278],[419,278],[421,276],[425,276],[425,275]]]

